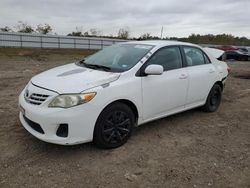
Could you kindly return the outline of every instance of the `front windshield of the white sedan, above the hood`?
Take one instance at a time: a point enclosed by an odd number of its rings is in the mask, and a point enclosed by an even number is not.
[[[124,72],[136,65],[154,46],[142,44],[115,44],[87,57],[86,67],[110,72]]]

